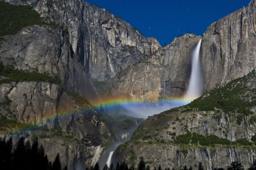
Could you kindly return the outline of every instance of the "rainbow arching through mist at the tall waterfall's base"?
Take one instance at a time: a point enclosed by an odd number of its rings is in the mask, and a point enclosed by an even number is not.
[[[37,123],[37,125],[40,125],[40,124],[42,125],[47,122],[52,122],[56,119],[65,120],[69,118],[72,114],[74,114],[77,110],[84,111],[84,112],[87,112],[87,111],[95,112],[95,114],[98,113],[97,111],[104,111],[109,113],[109,115],[116,114],[117,112],[119,112],[119,114],[124,113],[128,116],[146,119],[148,118],[148,116],[159,114],[171,108],[187,105],[192,100],[194,99],[192,98],[188,99],[184,97],[167,99],[167,100],[158,100],[158,101],[138,101],[138,100],[124,99],[124,98],[122,99],[113,98],[113,99],[108,99],[108,100],[98,102],[99,104],[96,104],[94,106],[87,105],[85,107],[75,107],[75,108],[70,106],[65,106],[65,108],[61,108],[61,110],[58,110],[57,114],[52,113],[52,114],[44,115],[44,117],[41,118],[40,122]],[[14,128],[13,131],[22,130],[22,128],[19,128],[19,126],[17,127]]]

